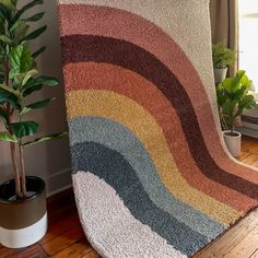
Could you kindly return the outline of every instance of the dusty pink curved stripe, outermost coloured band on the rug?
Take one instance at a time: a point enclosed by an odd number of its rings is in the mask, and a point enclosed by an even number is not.
[[[203,84],[179,46],[155,24],[119,9],[86,4],[60,4],[61,35],[99,35],[136,44],[154,54],[185,86],[195,108],[207,149],[216,164],[232,174],[258,184],[258,172],[230,160],[215,130]],[[80,22],[78,22],[80,21]],[[201,106],[200,106],[200,99]]]

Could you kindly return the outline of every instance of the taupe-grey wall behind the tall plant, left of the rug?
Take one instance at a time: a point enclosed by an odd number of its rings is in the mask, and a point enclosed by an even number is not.
[[[48,30],[32,44],[32,47],[37,49],[40,46],[47,46],[47,50],[37,60],[38,70],[42,74],[57,77],[61,80],[62,72],[56,0],[45,0],[43,5],[35,7],[33,11],[26,13],[26,16],[43,10],[46,11],[44,19],[33,24],[33,27],[47,24]],[[39,122],[40,136],[67,130],[62,84],[56,89],[45,87],[43,92],[35,93],[32,97],[33,101],[36,101],[48,96],[56,96],[57,99],[47,108],[35,110],[27,117]],[[40,176],[46,180],[48,194],[59,191],[71,184],[71,165],[67,138],[31,146],[25,154],[25,164],[27,175]],[[0,180],[10,178],[12,176],[11,173],[9,145],[0,142]]]

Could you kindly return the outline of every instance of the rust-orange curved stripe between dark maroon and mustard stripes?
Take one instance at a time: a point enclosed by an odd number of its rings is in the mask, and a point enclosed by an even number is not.
[[[80,72],[73,73],[73,71]],[[236,210],[246,209],[243,199],[251,201],[249,198],[233,191],[228,187],[218,185],[213,180],[203,177],[202,173],[198,169],[198,166],[191,159],[189,148],[184,148],[178,151],[178,140],[179,144],[187,146],[187,140],[184,137],[180,121],[171,103],[163,97],[163,94],[154,84],[146,81],[136,72],[107,63],[71,63],[66,66],[64,73],[68,74],[68,89],[77,85],[77,90],[80,90],[81,85],[81,89],[83,90],[83,84],[80,82],[85,81],[91,85],[91,89],[105,89],[113,91],[128,96],[129,98],[134,99],[134,102],[141,104],[150,115],[155,117],[156,122],[162,128],[177,167],[181,171],[181,174],[185,176],[187,181],[198,190],[212,196],[219,201],[230,204]],[[77,74],[77,77],[73,77],[72,74]],[[145,91],[142,92],[141,87],[144,87]],[[159,104],[153,105],[153,102]],[[166,113],[161,113],[161,110],[166,110]],[[166,120],[173,120],[173,124],[168,124]],[[173,131],[173,133],[171,133],[171,131]],[[189,162],[181,162],[183,156]],[[232,195],[234,195],[234,198],[232,198]]]

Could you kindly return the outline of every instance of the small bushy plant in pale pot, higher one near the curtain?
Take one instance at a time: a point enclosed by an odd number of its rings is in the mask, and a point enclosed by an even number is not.
[[[212,44],[212,61],[215,83],[221,83],[226,78],[227,67],[234,66],[234,51],[224,47],[223,43]]]

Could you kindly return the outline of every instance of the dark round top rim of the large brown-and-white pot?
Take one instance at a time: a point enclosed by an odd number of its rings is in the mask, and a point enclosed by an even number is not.
[[[34,195],[27,197],[27,198],[24,198],[24,199],[15,199],[15,200],[7,200],[4,198],[2,198],[2,195],[1,195],[1,188],[3,188],[4,186],[9,185],[9,184],[15,184],[14,181],[14,178],[11,178],[11,179],[8,179],[3,183],[0,184],[0,202],[1,203],[7,203],[7,204],[17,204],[17,203],[23,203],[25,201],[31,201],[32,199],[35,199],[37,196],[42,195],[45,190],[45,187],[46,187],[46,184],[45,181],[40,178],[40,177],[37,177],[37,176],[26,176],[26,179],[31,179],[31,180],[36,180],[39,183],[39,186],[38,186],[38,189],[37,191],[35,191]],[[14,192],[15,195],[15,192]]]

